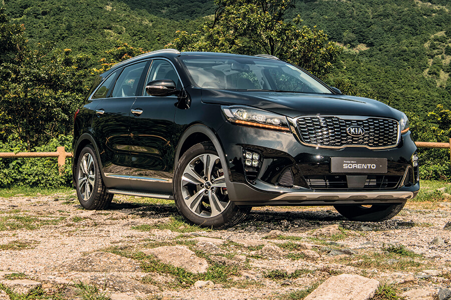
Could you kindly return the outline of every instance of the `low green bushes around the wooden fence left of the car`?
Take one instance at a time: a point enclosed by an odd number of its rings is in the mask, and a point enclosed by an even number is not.
[[[70,151],[71,142],[72,136],[60,135],[45,145],[33,148],[32,152],[55,152],[57,146],[65,146],[66,151]],[[17,153],[25,152],[26,149],[27,144],[16,135],[9,136],[7,142],[0,142],[0,152]],[[0,158],[0,188],[14,185],[55,188],[71,184],[70,158],[66,158],[61,174],[57,157]]]

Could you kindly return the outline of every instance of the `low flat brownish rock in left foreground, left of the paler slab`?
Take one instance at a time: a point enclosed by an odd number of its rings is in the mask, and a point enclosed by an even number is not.
[[[63,269],[79,272],[136,272],[139,262],[108,252],[93,252],[61,266]]]

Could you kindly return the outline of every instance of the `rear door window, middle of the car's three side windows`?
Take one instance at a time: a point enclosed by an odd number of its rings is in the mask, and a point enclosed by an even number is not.
[[[126,66],[113,88],[113,97],[132,97],[136,95],[139,78],[147,61]]]

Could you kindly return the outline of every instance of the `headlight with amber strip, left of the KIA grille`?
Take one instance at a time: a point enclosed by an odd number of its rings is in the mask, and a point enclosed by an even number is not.
[[[287,117],[248,106],[221,106],[225,117],[233,123],[265,129],[290,131]]]

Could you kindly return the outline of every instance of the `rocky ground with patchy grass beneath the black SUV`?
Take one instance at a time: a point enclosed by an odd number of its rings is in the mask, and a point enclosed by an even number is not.
[[[89,211],[74,192],[0,198],[0,300],[302,299],[339,274],[379,281],[373,299],[443,300],[450,254],[446,200],[408,203],[380,223],[260,207],[210,230],[152,199],[116,195]]]

